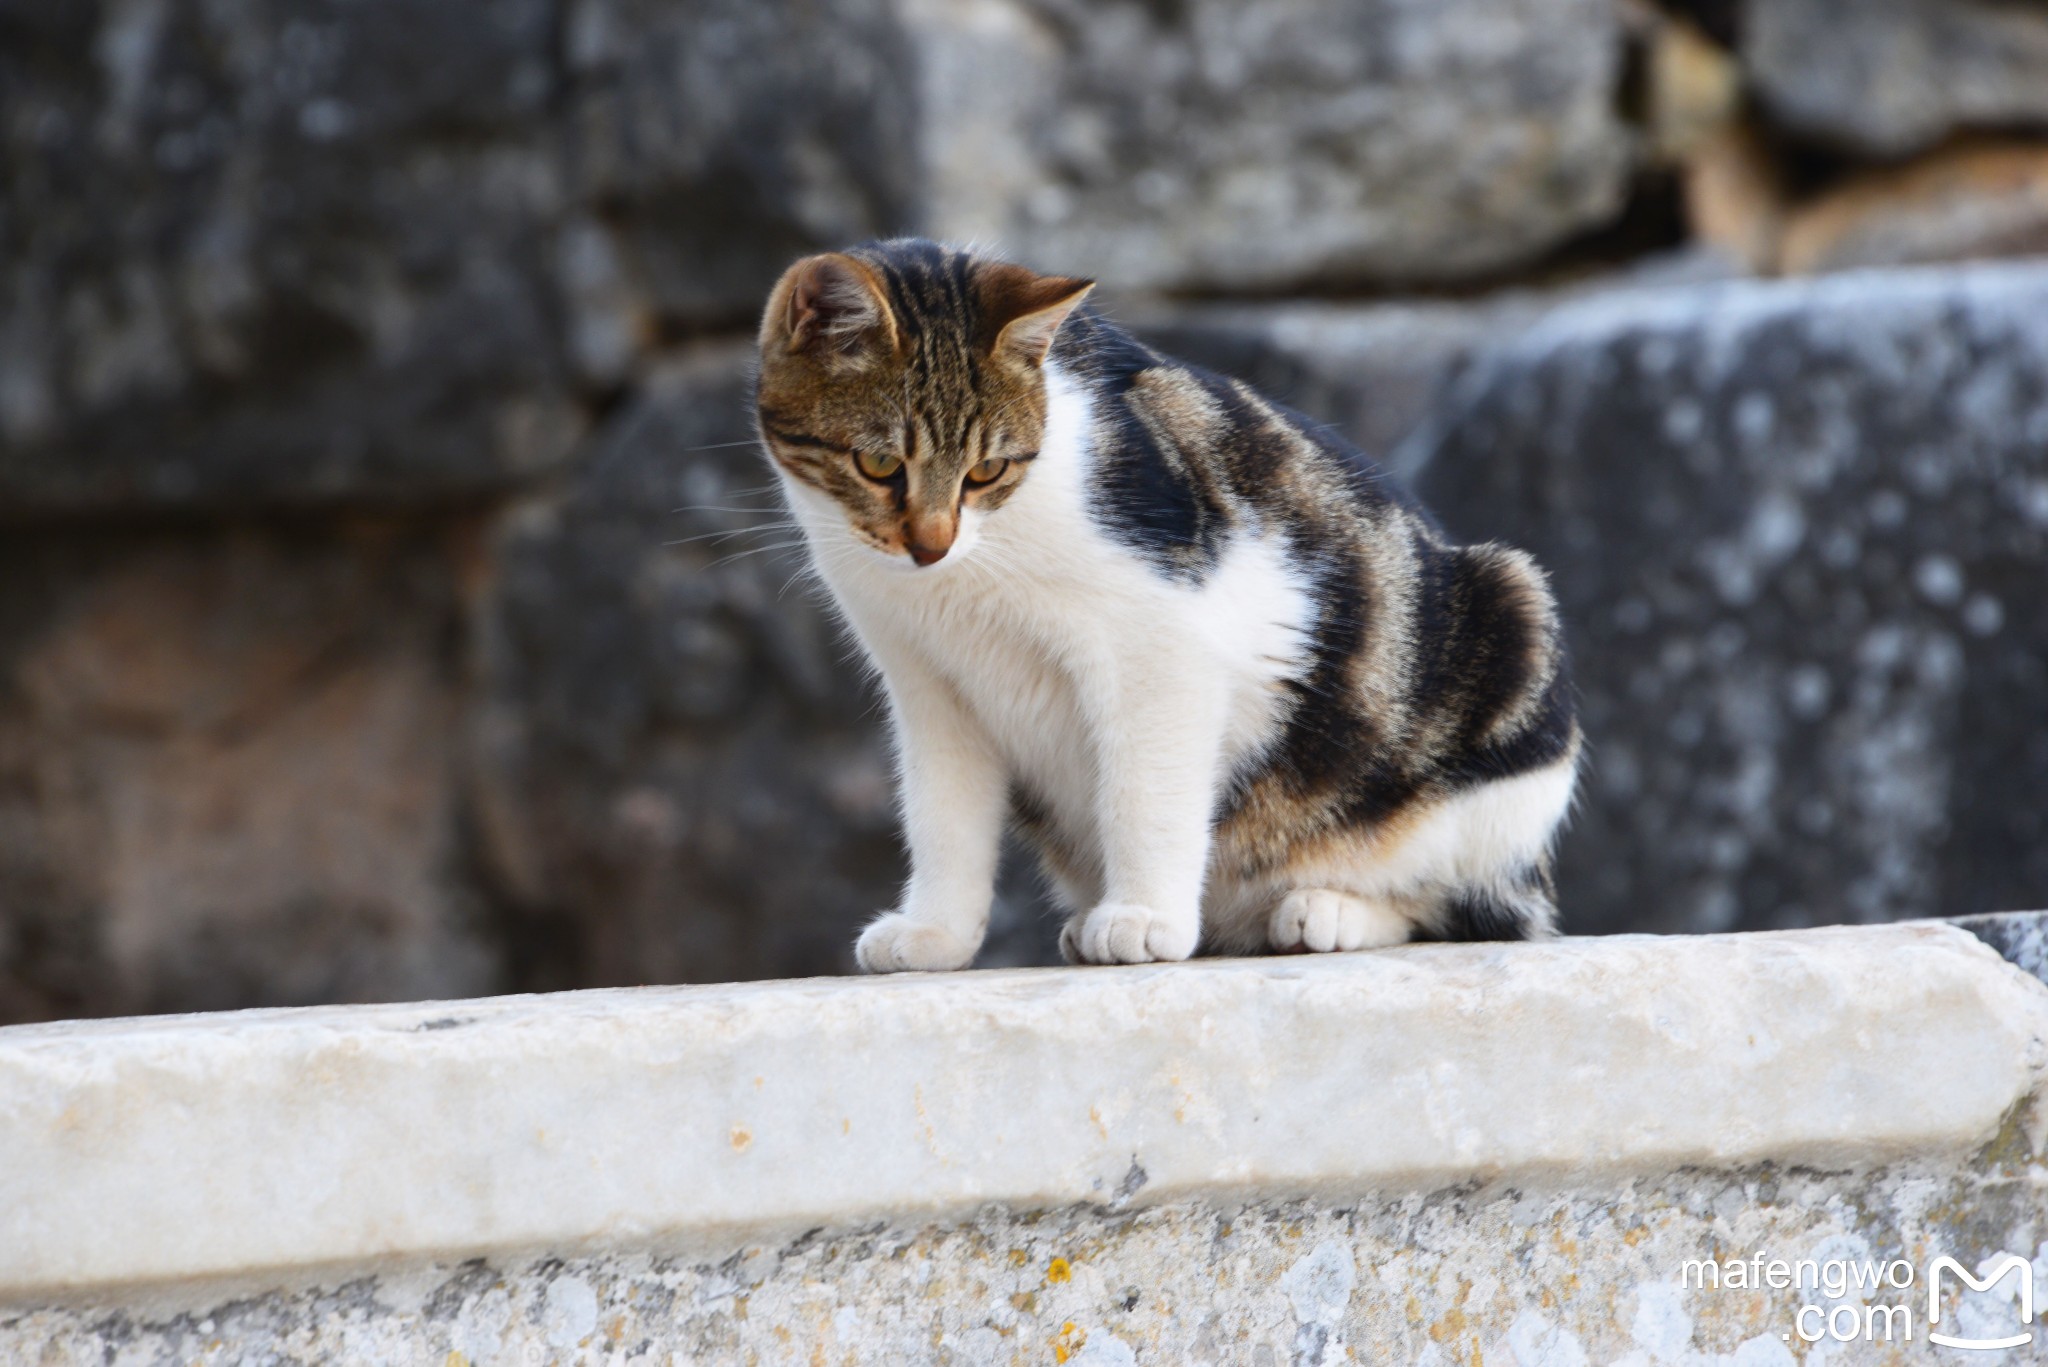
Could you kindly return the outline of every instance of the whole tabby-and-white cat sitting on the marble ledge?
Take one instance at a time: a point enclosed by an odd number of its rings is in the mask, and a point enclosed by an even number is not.
[[[911,875],[866,971],[956,969],[1014,822],[1069,961],[1552,933],[1579,726],[1522,551],[1038,275],[793,264],[756,416],[877,666]]]

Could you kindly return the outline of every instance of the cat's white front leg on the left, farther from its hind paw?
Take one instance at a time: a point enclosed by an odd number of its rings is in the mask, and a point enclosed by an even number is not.
[[[911,871],[901,910],[860,933],[854,959],[868,974],[967,967],[989,928],[1008,777],[952,685],[909,654],[877,658]]]

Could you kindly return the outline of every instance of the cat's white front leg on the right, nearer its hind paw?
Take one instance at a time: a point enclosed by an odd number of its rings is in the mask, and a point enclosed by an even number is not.
[[[1104,898],[1061,930],[1077,963],[1186,959],[1202,939],[1225,689],[1194,648],[1118,650],[1098,695]]]

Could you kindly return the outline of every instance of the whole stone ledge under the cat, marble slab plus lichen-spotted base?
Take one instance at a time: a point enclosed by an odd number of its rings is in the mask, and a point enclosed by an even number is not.
[[[2017,1252],[2048,1283],[2048,1156],[2028,1109],[2048,990],[1954,928],[432,1010],[0,1031],[0,1357],[1878,1367],[1950,1361],[1925,1342],[1935,1256],[1980,1269]],[[948,1051],[999,1055],[1004,1080],[922,1072]],[[621,1086],[629,1074],[659,1082]],[[174,1105],[201,1092],[211,1105]],[[254,1125],[266,1094],[328,1113]],[[61,1144],[35,1137],[49,1123]],[[236,1123],[252,1166],[221,1164],[203,1133]],[[846,1144],[860,1162],[829,1158]],[[496,1160],[477,1162],[485,1148]],[[1573,1160],[1528,1162],[1548,1148]],[[1010,1187],[1081,1152],[1051,1185]],[[209,1191],[162,1180],[166,1154]],[[422,1162],[465,1154],[463,1176],[408,1205]],[[907,1170],[963,1209],[930,1213],[897,1185]],[[1223,1191],[1190,1191],[1202,1170],[1196,1187]],[[793,1187],[840,1195],[786,1234],[664,1234],[678,1197],[791,1213]],[[344,1260],[47,1289],[82,1240],[219,1271],[219,1232],[256,1213],[258,1189],[262,1238]],[[229,1203],[207,1219],[156,1224],[215,1195]],[[100,1197],[119,1221],[68,1217]],[[369,1242],[307,1242],[369,1207],[406,1213]],[[420,1221],[494,1207],[573,1211],[586,1236],[416,1256]],[[1810,1258],[1827,1285],[1702,1285],[1698,1262],[1759,1254]],[[1905,1275],[1878,1291],[1821,1271],[1892,1260]],[[1942,1328],[2011,1332],[2011,1297],[1950,1279]],[[1903,1308],[1890,1324],[1911,1342],[1862,1342],[1866,1306]],[[1802,1324],[1837,1310],[1858,1342],[1808,1349]]]

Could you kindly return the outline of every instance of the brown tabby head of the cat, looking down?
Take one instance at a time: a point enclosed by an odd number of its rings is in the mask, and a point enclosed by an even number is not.
[[[958,560],[1030,478],[1047,353],[1090,289],[920,240],[807,256],[762,318],[762,441],[856,541]]]

